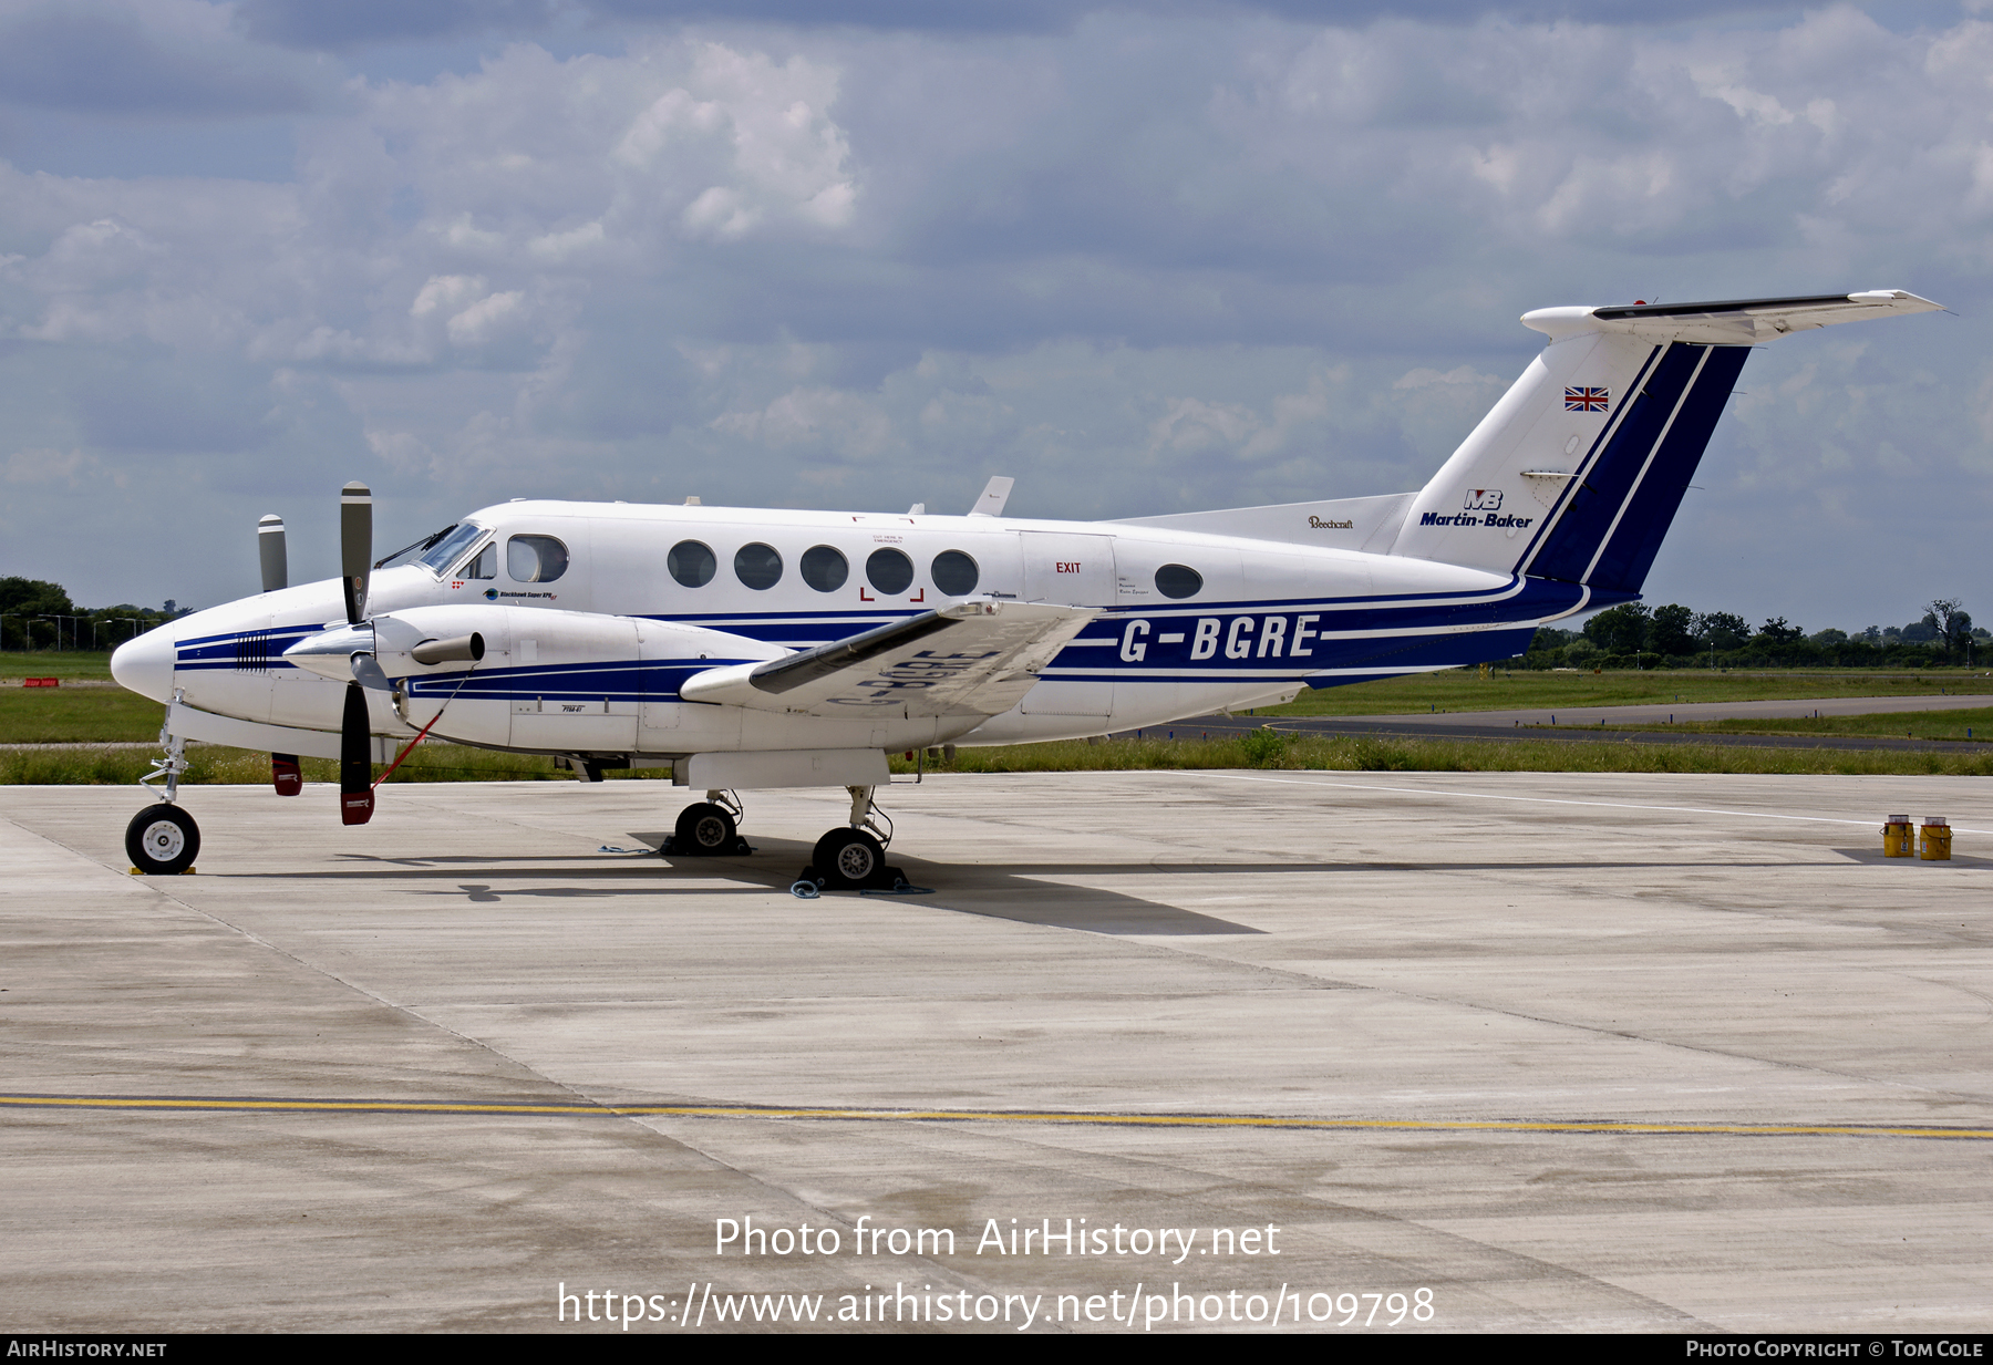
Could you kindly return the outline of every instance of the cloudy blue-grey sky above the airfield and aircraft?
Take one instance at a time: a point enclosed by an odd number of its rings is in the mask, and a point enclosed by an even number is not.
[[[510,496],[1140,516],[1417,488],[1559,303],[1758,353],[1648,580],[1993,622],[1993,0],[0,0],[0,574]],[[835,14],[837,22],[823,22]]]

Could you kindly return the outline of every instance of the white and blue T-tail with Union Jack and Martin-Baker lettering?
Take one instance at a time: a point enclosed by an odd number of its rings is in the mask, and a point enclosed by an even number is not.
[[[1873,291],[1531,313],[1551,345],[1419,492],[1391,552],[1638,594],[1750,347],[1937,307]]]

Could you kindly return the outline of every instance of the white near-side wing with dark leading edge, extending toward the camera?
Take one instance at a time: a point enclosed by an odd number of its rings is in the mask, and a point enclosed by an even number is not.
[[[759,664],[712,668],[678,695],[787,715],[1000,715],[1098,610],[961,602]]]

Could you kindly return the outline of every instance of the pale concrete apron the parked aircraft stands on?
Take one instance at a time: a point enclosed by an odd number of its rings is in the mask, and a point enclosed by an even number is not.
[[[0,1323],[1993,1321],[1977,779],[951,775],[933,895],[819,901],[841,791],[600,851],[684,797],[191,789],[142,879],[136,793],[0,789]]]

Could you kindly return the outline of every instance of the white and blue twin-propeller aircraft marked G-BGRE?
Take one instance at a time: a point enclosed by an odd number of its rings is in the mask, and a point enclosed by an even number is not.
[[[873,821],[887,753],[1162,725],[1301,687],[1519,654],[1640,594],[1750,347],[1939,305],[1808,299],[1541,309],[1523,379],[1419,492],[1038,522],[993,478],[967,516],[504,502],[379,564],[347,484],[343,578],[285,586],[263,518],[255,598],[112,658],[167,703],[163,803],[126,837],[193,863],[185,741],[341,759],[341,813],[423,735],[552,753],[590,777],[672,767],[706,793],[668,851],[737,853],[743,787],[851,791],[797,887],[891,879]]]

